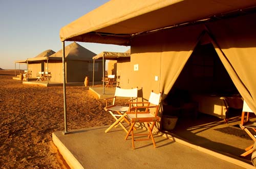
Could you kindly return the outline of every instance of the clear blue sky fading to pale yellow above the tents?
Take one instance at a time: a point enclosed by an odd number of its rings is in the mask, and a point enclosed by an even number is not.
[[[34,58],[48,49],[57,52],[61,49],[61,27],[106,2],[108,0],[0,0],[0,68],[14,69],[14,61]],[[124,52],[130,48],[77,43],[96,54],[102,51]]]

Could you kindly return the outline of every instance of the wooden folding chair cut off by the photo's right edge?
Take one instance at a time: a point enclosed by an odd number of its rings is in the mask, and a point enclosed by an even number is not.
[[[242,117],[241,117],[241,124],[240,124],[240,128],[243,129],[250,137],[251,139],[255,142],[256,141],[256,137],[255,135],[253,135],[251,133],[251,131],[249,130],[249,128],[251,128],[253,131],[256,132],[256,123],[255,122],[250,122],[249,121],[249,113],[253,112],[250,107],[247,105],[247,103],[244,101],[244,105],[243,105],[243,111],[242,111]],[[245,113],[247,113],[246,115],[246,119],[245,119]],[[244,152],[243,154],[241,154],[240,156],[247,156],[249,154],[252,153],[253,151],[253,145],[247,147],[245,149],[246,152]]]

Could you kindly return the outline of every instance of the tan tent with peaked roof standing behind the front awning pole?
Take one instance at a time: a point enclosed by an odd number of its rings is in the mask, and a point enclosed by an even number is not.
[[[76,42],[65,47],[66,82],[83,82],[86,76],[93,79],[93,60],[96,54]],[[63,82],[62,49],[49,57],[49,71],[52,81]],[[101,81],[102,66],[97,63],[95,79]]]

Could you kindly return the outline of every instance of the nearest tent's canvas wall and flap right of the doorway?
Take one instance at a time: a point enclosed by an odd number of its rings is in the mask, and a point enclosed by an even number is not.
[[[215,48],[234,85],[256,112],[256,14],[208,24]]]

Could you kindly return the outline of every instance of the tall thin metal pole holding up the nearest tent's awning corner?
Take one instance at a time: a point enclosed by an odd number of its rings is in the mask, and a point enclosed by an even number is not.
[[[66,66],[65,66],[65,41],[62,42],[62,73],[63,73],[63,107],[64,107],[64,126],[63,134],[68,133],[67,125],[67,100],[66,100]]]

